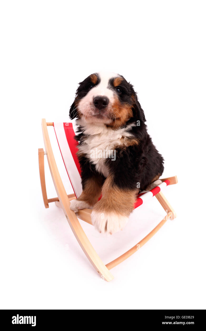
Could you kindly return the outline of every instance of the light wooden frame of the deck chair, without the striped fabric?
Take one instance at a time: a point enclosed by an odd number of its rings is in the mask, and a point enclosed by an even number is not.
[[[84,251],[85,255],[89,259],[89,261],[92,263],[94,268],[97,270],[97,272],[101,275],[101,277],[107,281],[112,280],[114,277],[109,271],[122,261],[129,258],[132,254],[137,252],[139,248],[141,248],[162,226],[165,224],[167,219],[174,219],[176,217],[176,213],[174,209],[171,207],[165,196],[160,191],[155,195],[161,206],[164,208],[164,210],[167,212],[167,215],[161,220],[161,222],[149,233],[144,237],[139,243],[137,243],[135,246],[133,246],[130,250],[119,256],[117,259],[107,263],[106,265],[103,263],[103,261],[100,259],[96,251],[94,250],[93,246],[91,245],[89,239],[87,238],[84,230],[82,229],[79,220],[77,218],[77,215],[69,209],[70,200],[75,199],[75,194],[67,195],[65,188],[62,183],[62,179],[60,177],[60,173],[58,171],[56,161],[54,158],[54,154],[52,151],[52,146],[49,139],[48,129],[47,126],[53,126],[53,122],[47,123],[45,119],[42,119],[42,132],[43,132],[43,138],[44,138],[44,145],[45,145],[45,151],[43,148],[38,149],[38,157],[39,157],[39,173],[40,173],[40,182],[41,182],[41,189],[42,189],[42,196],[44,201],[45,208],[49,208],[49,203],[56,202],[56,204],[60,204],[63,212],[66,216],[66,219],[79,243],[82,250]],[[45,173],[44,173],[44,155],[47,156],[47,161],[49,164],[50,172],[52,175],[52,179],[54,182],[54,186],[57,192],[56,198],[48,199],[47,198],[47,192],[46,192],[46,184],[45,184]],[[173,185],[178,182],[177,176],[174,177],[168,177],[161,179],[162,181],[169,179],[170,184]],[[91,222],[91,209],[83,209],[78,212],[78,217],[85,222],[92,224]]]

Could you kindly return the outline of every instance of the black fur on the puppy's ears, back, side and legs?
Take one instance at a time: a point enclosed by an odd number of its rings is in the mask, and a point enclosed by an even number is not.
[[[164,159],[158,153],[152,140],[147,133],[147,127],[145,125],[144,111],[138,101],[137,95],[133,86],[128,83],[123,76],[123,81],[120,84],[121,92],[118,93],[119,101],[122,104],[129,104],[132,109],[133,116],[128,118],[124,126],[131,123],[138,123],[133,126],[130,132],[134,138],[138,141],[138,144],[134,144],[128,147],[116,147],[116,160],[106,159],[105,163],[109,168],[109,172],[113,175],[113,181],[116,186],[124,190],[134,190],[137,188],[137,183],[140,183],[140,191],[146,189],[146,187],[153,181],[156,176],[161,176],[164,170]],[[97,84],[100,82],[98,76]],[[108,82],[108,88],[115,91],[116,87],[113,85],[114,79],[110,79]],[[79,84],[76,92],[76,99],[82,99],[88,93],[88,87],[91,84],[90,76]],[[70,118],[77,117],[77,111],[75,109],[75,101],[70,108]],[[84,127],[79,127],[79,133],[76,136],[76,140],[79,144],[84,142],[85,139]],[[79,157],[79,162],[82,170],[82,185],[84,188],[84,182],[97,173],[95,166],[85,156]],[[105,177],[102,175],[102,180]]]

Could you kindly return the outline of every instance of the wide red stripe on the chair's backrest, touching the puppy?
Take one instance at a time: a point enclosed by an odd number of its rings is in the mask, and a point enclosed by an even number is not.
[[[77,170],[79,171],[79,174],[81,176],[80,164],[79,164],[79,161],[78,161],[78,158],[76,155],[76,153],[78,151],[78,148],[77,148],[78,142],[74,139],[75,133],[73,130],[72,123],[63,123],[63,125],[64,125],[64,131],[65,131],[65,135],[66,135],[66,140],[69,145],[69,149],[71,151],[71,155],[74,159]]]

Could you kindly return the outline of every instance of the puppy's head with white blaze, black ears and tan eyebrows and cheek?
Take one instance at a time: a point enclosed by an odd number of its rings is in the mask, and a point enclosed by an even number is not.
[[[130,118],[145,121],[133,86],[123,76],[106,72],[93,73],[79,83],[69,116],[113,128]]]

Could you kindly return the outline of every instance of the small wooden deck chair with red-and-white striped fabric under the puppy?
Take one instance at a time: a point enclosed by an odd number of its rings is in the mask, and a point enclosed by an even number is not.
[[[59,148],[62,154],[62,159],[71,182],[74,193],[67,195],[65,188],[60,177],[54,154],[52,151],[48,129],[47,126],[52,126],[55,130]],[[109,271],[117,264],[129,258],[132,254],[137,252],[167,221],[167,219],[173,220],[176,217],[174,209],[171,207],[165,196],[162,194],[162,189],[168,185],[176,184],[177,176],[163,178],[162,183],[153,188],[151,191],[146,193],[140,193],[138,195],[137,201],[134,208],[138,208],[143,203],[148,203],[148,200],[152,197],[156,197],[161,206],[166,211],[166,216],[161,220],[161,222],[144,237],[139,243],[133,246],[129,251],[125,252],[115,260],[104,264],[100,259],[93,246],[91,245],[89,239],[87,238],[84,230],[82,229],[78,218],[84,220],[85,222],[92,224],[91,222],[91,209],[79,210],[78,213],[73,212],[69,209],[70,200],[76,199],[80,196],[82,192],[81,185],[81,175],[80,175],[80,166],[76,156],[78,150],[78,143],[74,139],[75,132],[72,123],[47,123],[45,119],[42,119],[42,131],[44,138],[45,151],[43,148],[38,150],[39,158],[39,173],[40,173],[40,182],[42,189],[42,196],[44,201],[45,208],[49,208],[49,203],[55,202],[58,206],[61,206],[63,212],[66,216],[66,219],[79,243],[85,255],[92,263],[97,272],[101,275],[104,280],[110,281],[114,277]],[[52,179],[54,182],[55,189],[57,191],[56,198],[47,198],[46,184],[45,184],[45,173],[44,173],[44,155],[47,156],[47,161],[51,171]],[[78,218],[77,218],[78,217]]]

